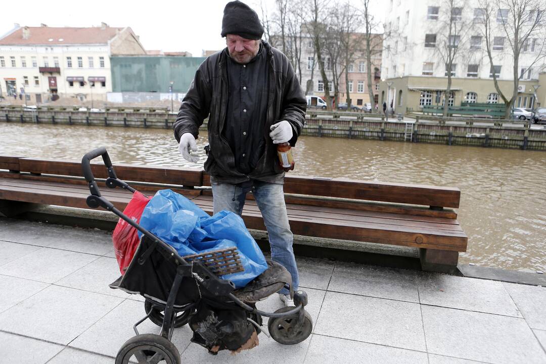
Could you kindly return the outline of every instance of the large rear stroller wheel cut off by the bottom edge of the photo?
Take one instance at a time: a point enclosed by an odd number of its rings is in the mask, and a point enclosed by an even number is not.
[[[116,364],[157,363],[180,364],[180,353],[175,345],[163,336],[153,333],[133,336],[116,355]],[[163,361],[162,361],[163,360]]]

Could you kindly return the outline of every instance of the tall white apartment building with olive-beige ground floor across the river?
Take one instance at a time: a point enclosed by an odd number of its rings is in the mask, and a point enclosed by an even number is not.
[[[501,91],[512,96],[514,59],[510,40],[503,30],[509,9],[496,9],[492,14],[491,64],[483,36],[484,10],[478,0],[455,1],[453,8],[448,2],[418,0],[389,0],[387,6],[379,99],[381,103],[387,102],[389,109],[403,114],[419,111],[423,106],[443,105],[446,100],[449,105],[502,102],[494,86],[494,73]],[[450,19],[459,28],[449,38]],[[529,19],[533,19],[532,14]],[[532,86],[538,84],[544,59],[533,62],[545,51],[543,44],[544,39],[537,36],[524,44],[514,107],[535,105]],[[446,46],[456,49],[450,69],[447,69]],[[452,92],[446,95],[448,72],[452,75]]]

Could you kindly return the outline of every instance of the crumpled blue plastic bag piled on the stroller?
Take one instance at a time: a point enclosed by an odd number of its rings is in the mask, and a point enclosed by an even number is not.
[[[144,208],[140,225],[181,256],[236,247],[245,271],[221,277],[232,281],[236,288],[245,287],[268,268],[262,250],[239,215],[224,210],[209,216],[170,189],[159,190],[153,196]]]

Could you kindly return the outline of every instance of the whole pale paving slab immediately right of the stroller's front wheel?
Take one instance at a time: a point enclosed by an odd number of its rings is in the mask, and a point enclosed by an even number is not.
[[[313,333],[425,351],[417,303],[328,292]]]

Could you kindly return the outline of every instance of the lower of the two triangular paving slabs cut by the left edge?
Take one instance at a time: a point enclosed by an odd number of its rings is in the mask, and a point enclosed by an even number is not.
[[[2,294],[0,294],[0,312],[4,312],[8,308],[17,305],[17,303],[48,286],[48,283],[0,275],[0,287],[2,287]]]

